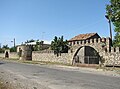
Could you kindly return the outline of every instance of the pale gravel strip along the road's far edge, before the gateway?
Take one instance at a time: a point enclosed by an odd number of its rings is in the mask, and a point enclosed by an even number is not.
[[[53,67],[54,66],[54,67]],[[86,68],[86,67],[71,67],[71,66],[61,66],[61,65],[53,65],[51,67],[56,69],[68,70],[68,71],[80,71],[83,73],[91,73],[91,74],[98,74],[98,75],[105,75],[111,77],[120,77],[116,71],[110,71],[105,69],[96,69],[96,68]]]

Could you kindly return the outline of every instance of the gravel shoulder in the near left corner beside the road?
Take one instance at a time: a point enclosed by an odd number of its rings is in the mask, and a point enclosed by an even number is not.
[[[10,70],[0,70],[0,80],[7,89],[50,89]]]

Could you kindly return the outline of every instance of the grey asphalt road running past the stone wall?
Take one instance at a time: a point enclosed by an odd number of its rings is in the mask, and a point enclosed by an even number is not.
[[[80,68],[0,60],[1,74],[14,84],[22,83],[21,85],[26,86],[25,89],[120,89],[119,76],[103,75],[96,71],[89,72]]]

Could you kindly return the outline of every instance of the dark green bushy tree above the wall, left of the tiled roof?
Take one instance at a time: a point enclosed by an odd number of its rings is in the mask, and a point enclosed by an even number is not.
[[[67,46],[67,40],[63,40],[63,36],[56,37],[51,42],[51,49],[54,50],[54,53],[59,56],[61,53],[67,53],[68,52],[68,46]]]

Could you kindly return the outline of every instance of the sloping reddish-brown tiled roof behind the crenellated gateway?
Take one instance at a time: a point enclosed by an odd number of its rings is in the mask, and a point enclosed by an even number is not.
[[[70,39],[69,41],[86,40],[86,39],[88,39],[96,34],[97,33],[79,34],[79,35],[73,37],[72,39]]]

